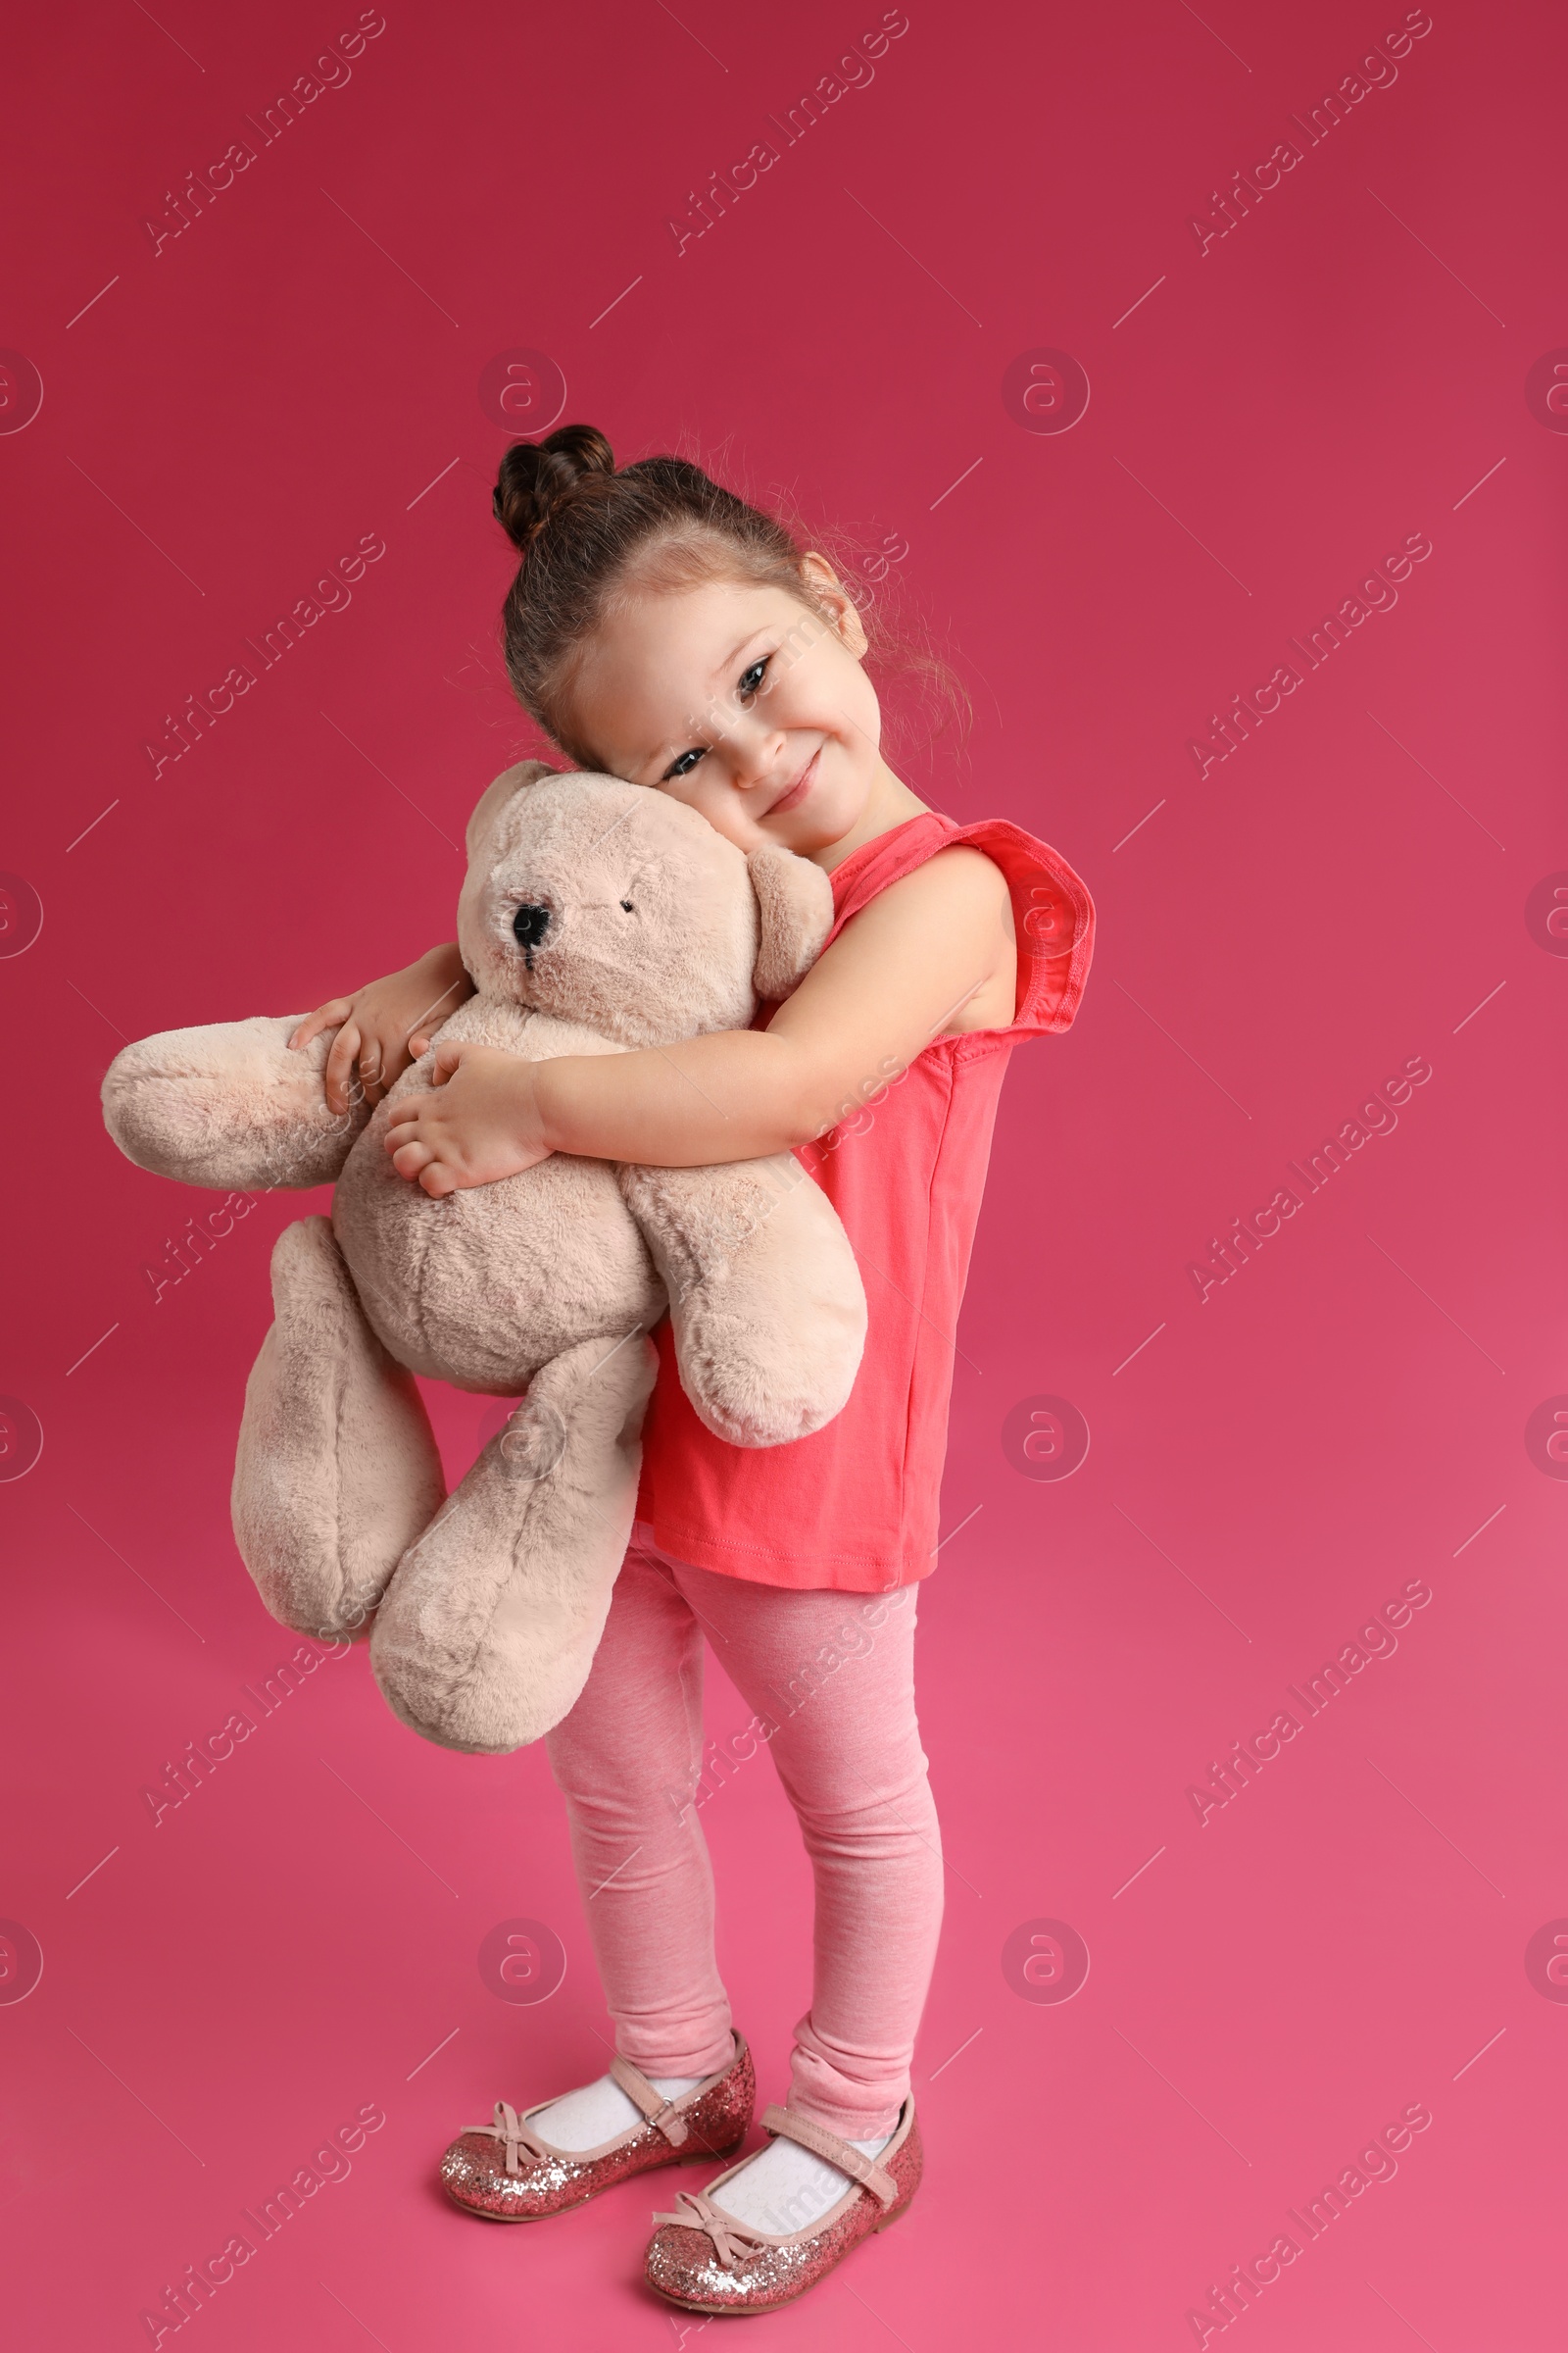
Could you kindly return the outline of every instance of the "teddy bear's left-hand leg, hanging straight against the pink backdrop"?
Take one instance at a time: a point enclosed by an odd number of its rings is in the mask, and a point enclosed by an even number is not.
[[[364,1320],[324,1217],[277,1235],[273,1308],[244,1386],[235,1544],[284,1626],[360,1635],[447,1492],[430,1417]]]

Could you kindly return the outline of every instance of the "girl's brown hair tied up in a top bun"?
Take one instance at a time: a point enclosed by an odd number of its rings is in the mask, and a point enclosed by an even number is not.
[[[741,581],[783,588],[823,614],[804,546],[785,522],[689,459],[644,456],[616,471],[595,426],[557,426],[541,442],[512,442],[491,504],[522,553],[501,607],[508,678],[524,711],[583,767],[595,765],[595,753],[576,734],[571,682],[583,642],[616,598]],[[867,621],[865,581],[851,572],[846,588]],[[938,699],[966,718],[969,696],[929,640],[877,628],[875,649],[884,656],[877,668],[893,654],[893,668],[924,673],[922,682],[936,685]]]

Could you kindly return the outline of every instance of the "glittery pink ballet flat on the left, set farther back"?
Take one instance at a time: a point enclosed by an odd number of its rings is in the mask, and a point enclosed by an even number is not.
[[[726,2158],[745,2139],[757,2106],[752,2054],[743,2035],[733,2042],[729,2066],[682,2099],[663,2099],[630,2059],[611,2059],[609,2073],[642,2108],[642,2122],[597,2148],[552,2148],[534,2132],[529,2118],[548,2108],[548,2099],[522,2115],[498,2099],[494,2125],[470,2125],[442,2158],[442,2188],[484,2221],[543,2221],[656,2165]]]

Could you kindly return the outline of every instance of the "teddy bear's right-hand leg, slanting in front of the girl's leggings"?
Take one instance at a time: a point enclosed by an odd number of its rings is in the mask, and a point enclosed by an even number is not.
[[[428,1741],[498,1755],[550,1732],[588,1682],[637,1506],[654,1346],[630,1332],[541,1367],[371,1633],[388,1704]]]

